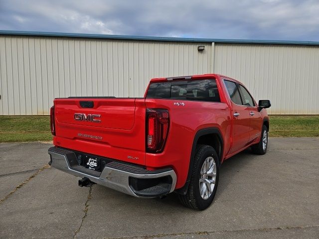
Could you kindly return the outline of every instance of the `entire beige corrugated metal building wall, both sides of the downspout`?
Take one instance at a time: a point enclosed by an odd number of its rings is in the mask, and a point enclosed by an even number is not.
[[[1,35],[0,115],[47,115],[57,97],[143,97],[151,78],[210,72],[271,99],[272,114],[319,114],[318,65],[318,46]]]

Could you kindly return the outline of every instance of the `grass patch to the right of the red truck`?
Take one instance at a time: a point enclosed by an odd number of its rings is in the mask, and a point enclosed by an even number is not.
[[[269,116],[270,137],[319,137],[319,116]]]

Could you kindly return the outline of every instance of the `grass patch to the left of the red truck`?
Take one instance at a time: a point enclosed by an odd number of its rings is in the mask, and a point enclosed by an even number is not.
[[[0,142],[51,140],[49,116],[0,116]]]

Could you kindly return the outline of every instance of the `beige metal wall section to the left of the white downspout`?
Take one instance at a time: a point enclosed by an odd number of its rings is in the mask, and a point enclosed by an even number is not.
[[[0,115],[68,96],[143,97],[151,78],[208,73],[211,43],[0,36]]]

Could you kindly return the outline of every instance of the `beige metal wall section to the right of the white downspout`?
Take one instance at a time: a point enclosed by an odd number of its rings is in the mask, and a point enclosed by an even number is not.
[[[319,47],[215,43],[214,72],[270,99],[270,114],[319,114]]]

